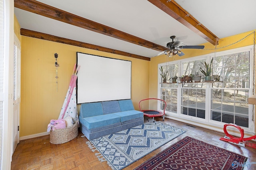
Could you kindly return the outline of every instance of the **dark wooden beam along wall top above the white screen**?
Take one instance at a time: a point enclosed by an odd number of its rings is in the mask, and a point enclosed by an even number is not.
[[[20,35],[24,35],[24,36],[27,36],[27,37],[38,38],[38,39],[44,39],[44,40],[48,40],[48,41],[54,41],[54,42],[58,42],[58,43],[64,43],[64,44],[68,44],[68,45],[74,45],[74,46],[78,46],[78,47],[103,51],[103,52],[117,54],[117,55],[123,55],[123,56],[127,56],[127,57],[132,57],[132,58],[135,58],[135,59],[150,61],[149,57],[144,57],[144,56],[141,56],[141,55],[131,54],[131,53],[127,53],[127,52],[124,52],[124,51],[109,49],[109,48],[101,47],[101,46],[98,46],[98,45],[83,43],[83,42],[80,42],[80,41],[75,41],[75,40],[72,40],[72,39],[66,39],[66,38],[62,38],[62,37],[57,37],[57,36],[54,36],[54,35],[50,35],[50,34],[46,34],[46,33],[40,33],[40,32],[37,32],[37,31],[32,31],[32,30],[23,29],[23,28],[20,29]]]

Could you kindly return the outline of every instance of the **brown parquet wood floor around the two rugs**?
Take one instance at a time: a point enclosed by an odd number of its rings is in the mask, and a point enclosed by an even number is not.
[[[161,119],[162,118],[160,117],[156,117],[157,121],[160,121]],[[220,141],[220,137],[225,136],[224,133],[215,132],[201,127],[191,127],[186,123],[174,121],[168,118],[166,118],[164,122],[186,129],[187,132],[124,168],[124,170],[136,168],[161,150],[166,149],[168,146],[174,144],[185,136],[190,136],[206,143],[216,145],[220,148],[244,155],[248,157],[248,163],[256,163],[256,149],[251,147],[240,147],[238,145]],[[81,136],[82,133],[79,131],[78,137],[68,143],[60,145],[51,144],[50,135],[20,141],[12,156],[11,169],[111,170],[107,162],[100,162],[97,156],[95,156],[96,152],[92,152],[86,145],[86,141],[88,141],[88,139]],[[250,143],[253,142],[250,141]],[[252,164],[250,168],[245,167],[244,170],[256,170],[256,164]]]

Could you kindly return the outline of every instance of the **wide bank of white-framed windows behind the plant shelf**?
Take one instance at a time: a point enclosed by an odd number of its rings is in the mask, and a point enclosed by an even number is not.
[[[207,122],[223,127],[225,123],[235,123],[251,130],[253,125],[252,106],[248,96],[252,95],[252,47],[242,47],[219,53],[193,57],[175,62],[159,64],[172,76],[200,75],[201,82],[162,83],[159,74],[158,96],[167,103],[166,115],[177,119]],[[200,72],[202,63],[213,58],[212,75],[220,78],[216,82],[204,82]],[[158,108],[163,109],[163,105]]]

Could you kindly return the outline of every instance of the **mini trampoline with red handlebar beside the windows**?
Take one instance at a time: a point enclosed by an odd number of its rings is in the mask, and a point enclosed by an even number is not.
[[[144,100],[160,100],[160,101],[164,102],[164,104],[165,104],[165,105],[164,105],[164,111],[158,111],[158,110],[141,110],[140,102],[142,102],[142,101],[144,101]],[[140,111],[142,111],[145,116],[153,117],[153,121],[155,121],[155,120],[154,120],[154,117],[162,116],[162,117],[163,117],[163,121],[164,121],[165,108],[166,108],[166,102],[165,102],[164,100],[156,99],[156,98],[148,98],[148,99],[142,99],[142,100],[140,100],[140,102],[139,102]]]

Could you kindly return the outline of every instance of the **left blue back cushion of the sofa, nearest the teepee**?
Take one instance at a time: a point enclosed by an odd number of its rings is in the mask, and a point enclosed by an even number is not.
[[[101,102],[82,104],[80,113],[82,113],[82,117],[103,115]]]

